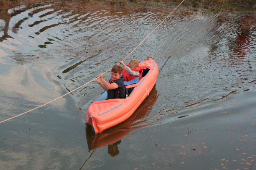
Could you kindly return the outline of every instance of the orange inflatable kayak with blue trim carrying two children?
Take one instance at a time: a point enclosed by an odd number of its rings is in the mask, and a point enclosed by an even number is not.
[[[129,118],[154,87],[158,74],[157,63],[149,57],[149,60],[139,65],[144,72],[137,83],[126,85],[127,89],[133,89],[126,99],[96,99],[89,106],[86,120],[96,134]]]

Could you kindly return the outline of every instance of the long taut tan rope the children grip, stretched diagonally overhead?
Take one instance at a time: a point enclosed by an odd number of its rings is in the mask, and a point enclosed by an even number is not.
[[[184,1],[185,1],[185,0],[183,0],[183,1],[165,18],[165,19],[167,19]],[[162,23],[165,21],[165,19],[164,19],[160,24],[162,24]],[[158,26],[157,26],[155,29],[157,29],[157,28],[160,26],[160,24],[158,24]],[[151,31],[151,32],[149,33],[149,35],[152,34],[152,32],[154,32],[155,29],[154,29],[153,31]],[[144,40],[147,39],[147,37],[149,37],[149,35],[147,35],[147,36],[142,40],[142,42],[144,42]],[[140,44],[141,44],[142,42],[140,42]],[[140,44],[139,44],[139,45],[140,45]],[[135,47],[135,49],[137,49],[137,47],[139,47],[139,45],[137,45],[137,46]],[[135,49],[133,49],[132,52],[134,52]],[[125,60],[132,52],[130,52],[130,53],[124,58],[124,60]],[[122,61],[124,61],[124,60],[122,60]],[[118,64],[120,64],[120,62],[119,62]],[[109,70],[111,70],[111,69],[112,69],[112,68],[110,68]],[[109,70],[105,71],[103,74],[107,73]],[[86,83],[86,84],[89,84],[89,83],[91,83],[92,81],[94,81],[94,80],[96,80],[96,79],[97,79],[97,78],[95,78],[95,79],[89,81],[89,82]],[[85,86],[86,84],[84,84],[83,86]],[[31,111],[33,111],[33,110],[36,110],[37,108],[43,107],[43,106],[45,106],[45,105],[47,105],[47,104],[49,104],[49,103],[51,103],[51,102],[54,102],[55,100],[60,99],[61,97],[64,97],[64,96],[68,95],[69,93],[71,93],[71,92],[73,92],[73,91],[76,91],[77,89],[79,89],[79,88],[81,88],[81,87],[83,87],[83,86],[80,86],[80,87],[78,87],[78,88],[76,88],[76,89],[74,89],[74,90],[68,92],[67,94],[64,94],[63,96],[60,96],[60,97],[58,97],[58,98],[56,98],[56,99],[54,99],[54,100],[51,100],[50,102],[48,102],[48,103],[46,103],[46,104],[40,105],[40,106],[38,106],[38,107],[36,107],[36,108],[33,108],[33,109],[31,109],[31,110],[29,110],[29,111],[27,111],[27,112],[21,113],[21,114],[19,114],[19,115],[17,115],[17,116],[14,116],[14,117],[8,118],[8,119],[6,119],[6,120],[0,121],[0,123],[3,123],[3,122],[5,122],[5,121],[8,121],[8,120],[11,120],[11,119],[13,119],[13,118],[19,117],[19,116],[21,116],[21,115],[24,115],[24,114],[26,114],[26,113],[28,113],[28,112],[31,112]]]

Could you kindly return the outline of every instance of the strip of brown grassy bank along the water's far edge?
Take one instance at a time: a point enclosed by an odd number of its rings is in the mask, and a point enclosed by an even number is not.
[[[59,9],[73,9],[76,7],[77,11],[87,10],[100,10],[102,8],[156,8],[156,7],[168,7],[177,6],[182,0],[0,0],[0,8],[13,8],[20,5],[33,5],[40,6],[43,4],[53,4],[55,8]],[[184,1],[182,6],[201,7],[205,9],[220,8],[223,4],[223,0],[192,0]],[[256,8],[256,0],[225,0],[224,6],[249,6]]]

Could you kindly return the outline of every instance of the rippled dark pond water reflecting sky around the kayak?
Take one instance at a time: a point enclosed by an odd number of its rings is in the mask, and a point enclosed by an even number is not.
[[[2,10],[0,121],[105,72],[173,9]],[[256,29],[243,32],[246,10],[207,24],[216,13],[178,8],[124,61],[178,50],[155,60],[156,85],[132,117],[94,136],[85,113],[102,89],[89,83],[1,123],[1,169],[255,169]]]

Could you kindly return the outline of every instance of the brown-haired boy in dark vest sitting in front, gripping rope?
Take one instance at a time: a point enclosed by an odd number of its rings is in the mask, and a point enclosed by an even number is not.
[[[107,91],[107,99],[125,99],[126,89],[124,81],[120,78],[123,68],[119,65],[114,65],[111,69],[111,79],[109,83],[104,79],[104,74],[97,77],[97,83]]]

